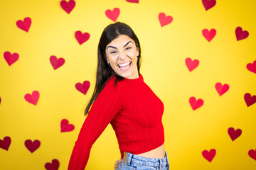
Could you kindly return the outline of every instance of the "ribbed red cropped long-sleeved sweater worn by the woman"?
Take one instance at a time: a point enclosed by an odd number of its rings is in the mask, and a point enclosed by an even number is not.
[[[142,74],[123,79],[114,88],[115,76],[92,104],[70,157],[69,170],[85,169],[90,149],[110,123],[124,152],[141,154],[164,144],[164,103],[146,85]]]

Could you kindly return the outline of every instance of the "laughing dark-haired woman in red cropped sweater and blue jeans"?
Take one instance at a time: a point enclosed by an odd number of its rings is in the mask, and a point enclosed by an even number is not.
[[[68,169],[85,169],[92,145],[109,123],[122,159],[114,169],[169,169],[161,122],[164,104],[139,73],[141,48],[132,28],[120,22],[107,26],[97,57],[95,89]]]

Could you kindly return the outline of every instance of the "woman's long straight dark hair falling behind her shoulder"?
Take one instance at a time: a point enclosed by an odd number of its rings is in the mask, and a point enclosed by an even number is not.
[[[96,100],[98,94],[100,94],[100,91],[104,88],[106,82],[108,79],[110,79],[111,75],[116,75],[117,79],[114,81],[114,85],[117,84],[117,81],[121,81],[124,79],[124,77],[119,76],[112,67],[109,67],[106,60],[106,46],[112,42],[115,38],[117,38],[119,35],[127,35],[129,38],[132,38],[134,40],[138,50],[138,60],[137,60],[137,68],[138,73],[139,69],[142,63],[142,57],[141,57],[141,47],[139,45],[139,39],[135,35],[132,28],[130,28],[125,23],[112,23],[109,26],[107,26],[100,37],[100,42],[97,49],[97,75],[96,75],[96,84],[95,89],[92,94],[92,98],[90,98],[89,103],[87,103],[87,107],[85,108],[85,115],[89,113],[89,108],[92,106],[92,103]]]

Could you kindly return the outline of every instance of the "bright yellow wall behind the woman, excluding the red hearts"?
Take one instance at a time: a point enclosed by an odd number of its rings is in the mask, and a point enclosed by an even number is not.
[[[247,64],[256,60],[256,2],[217,1],[206,11],[202,1],[125,0],[76,1],[70,14],[60,1],[1,1],[0,38],[0,140],[11,137],[9,150],[0,149],[0,169],[45,169],[58,159],[59,169],[67,169],[70,154],[85,117],[84,106],[95,86],[97,43],[102,30],[114,23],[105,16],[107,9],[119,8],[117,21],[127,23],[142,45],[144,81],[164,102],[165,149],[172,170],[256,169],[256,158],[248,152],[256,149],[256,103],[247,106],[244,96],[256,95],[256,74]],[[161,27],[159,13],[172,16]],[[31,18],[28,33],[16,21]],[[237,40],[235,29],[247,30],[249,36]],[[208,42],[203,29],[215,29]],[[89,33],[79,45],[75,32]],[[16,52],[19,58],[7,64],[4,52]],[[65,59],[53,69],[50,56]],[[186,58],[198,60],[189,72]],[[75,84],[90,81],[84,95]],[[228,84],[220,96],[215,84]],[[38,91],[36,105],[24,96]],[[203,99],[203,106],[193,111],[188,100]],[[67,119],[75,130],[60,132],[60,122]],[[242,130],[232,141],[228,128]],[[33,153],[26,140],[39,140]],[[211,162],[204,150],[215,149]],[[117,139],[111,125],[93,145],[86,169],[113,169],[119,159]]]

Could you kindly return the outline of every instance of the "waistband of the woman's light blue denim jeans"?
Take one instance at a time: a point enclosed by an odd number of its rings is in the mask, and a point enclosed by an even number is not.
[[[127,152],[127,164],[140,164],[143,166],[166,166],[168,164],[168,154],[165,151],[164,158],[149,158],[149,157],[141,157],[136,154],[132,154]]]

